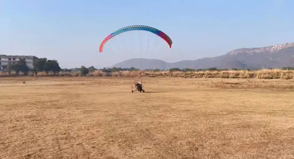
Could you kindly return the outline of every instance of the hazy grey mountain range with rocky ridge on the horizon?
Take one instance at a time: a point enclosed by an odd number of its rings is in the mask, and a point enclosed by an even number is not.
[[[112,67],[139,69],[193,68],[282,68],[294,67],[294,42],[260,48],[241,48],[218,57],[165,62],[159,59],[128,59]]]

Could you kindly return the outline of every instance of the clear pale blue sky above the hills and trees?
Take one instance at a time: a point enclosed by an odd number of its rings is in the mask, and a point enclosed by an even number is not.
[[[0,0],[0,54],[56,59],[62,68],[214,57],[294,42],[293,6],[290,0]],[[108,34],[129,25],[160,29],[172,48],[154,34],[126,32],[99,52]]]

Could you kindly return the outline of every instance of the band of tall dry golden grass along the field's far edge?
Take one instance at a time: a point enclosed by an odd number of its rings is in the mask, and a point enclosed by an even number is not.
[[[11,72],[11,77],[16,77],[15,72]],[[24,73],[20,72],[19,76],[24,76]],[[71,76],[79,77],[80,72],[59,72],[54,74],[52,72],[38,72],[35,75],[30,72],[28,76],[39,76],[39,77],[52,77],[52,76]],[[183,78],[258,78],[258,79],[282,79],[291,80],[294,79],[293,70],[281,70],[281,69],[262,69],[255,71],[247,70],[229,70],[229,71],[199,71],[199,72],[152,72],[152,71],[122,71],[122,72],[103,72],[95,71],[90,72],[87,76],[90,77],[183,77]],[[9,77],[6,72],[0,73],[0,77]]]

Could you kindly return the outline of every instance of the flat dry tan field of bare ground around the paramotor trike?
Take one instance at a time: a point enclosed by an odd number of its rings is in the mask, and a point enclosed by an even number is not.
[[[0,158],[293,159],[294,80],[0,79]]]

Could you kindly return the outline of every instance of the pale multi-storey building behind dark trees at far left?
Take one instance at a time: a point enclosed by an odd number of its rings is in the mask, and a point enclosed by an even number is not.
[[[29,69],[33,69],[33,63],[37,57],[35,56],[17,56],[17,55],[0,55],[0,69],[6,71],[8,64],[16,64],[19,59],[24,59]]]

